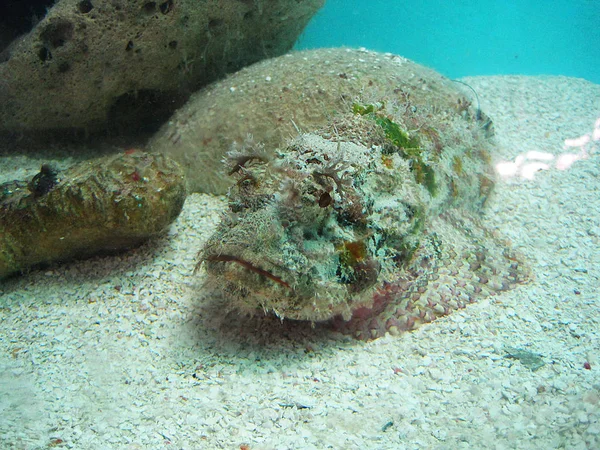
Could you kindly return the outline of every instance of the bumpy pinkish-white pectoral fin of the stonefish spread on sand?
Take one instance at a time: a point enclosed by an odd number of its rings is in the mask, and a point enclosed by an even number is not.
[[[332,324],[361,340],[396,335],[530,279],[508,241],[470,212],[450,210],[429,222],[410,263],[380,286],[369,306]]]

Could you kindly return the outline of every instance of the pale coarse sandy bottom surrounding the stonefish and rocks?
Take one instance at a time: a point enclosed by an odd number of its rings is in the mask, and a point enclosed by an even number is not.
[[[192,274],[224,199],[191,195],[158,241],[0,282],[0,447],[600,448],[600,142],[564,146],[593,133],[600,86],[463,81],[505,174],[484,222],[534,281],[369,343],[240,318]],[[2,178],[39,164],[4,157]]]

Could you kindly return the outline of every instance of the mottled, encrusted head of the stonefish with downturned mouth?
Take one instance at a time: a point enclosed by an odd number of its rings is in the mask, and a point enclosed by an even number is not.
[[[281,318],[349,317],[368,303],[381,273],[373,200],[360,188],[370,153],[304,135],[240,168],[229,212],[200,254],[208,282],[238,310]]]

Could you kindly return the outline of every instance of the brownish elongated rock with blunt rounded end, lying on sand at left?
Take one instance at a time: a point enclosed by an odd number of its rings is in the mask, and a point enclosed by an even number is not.
[[[114,252],[162,232],[183,207],[179,165],[128,151],[0,185],[0,278],[38,264]]]

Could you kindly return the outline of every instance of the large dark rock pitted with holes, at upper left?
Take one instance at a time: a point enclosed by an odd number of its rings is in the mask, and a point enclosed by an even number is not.
[[[143,128],[198,87],[288,51],[323,3],[8,2],[0,9],[0,131]]]

